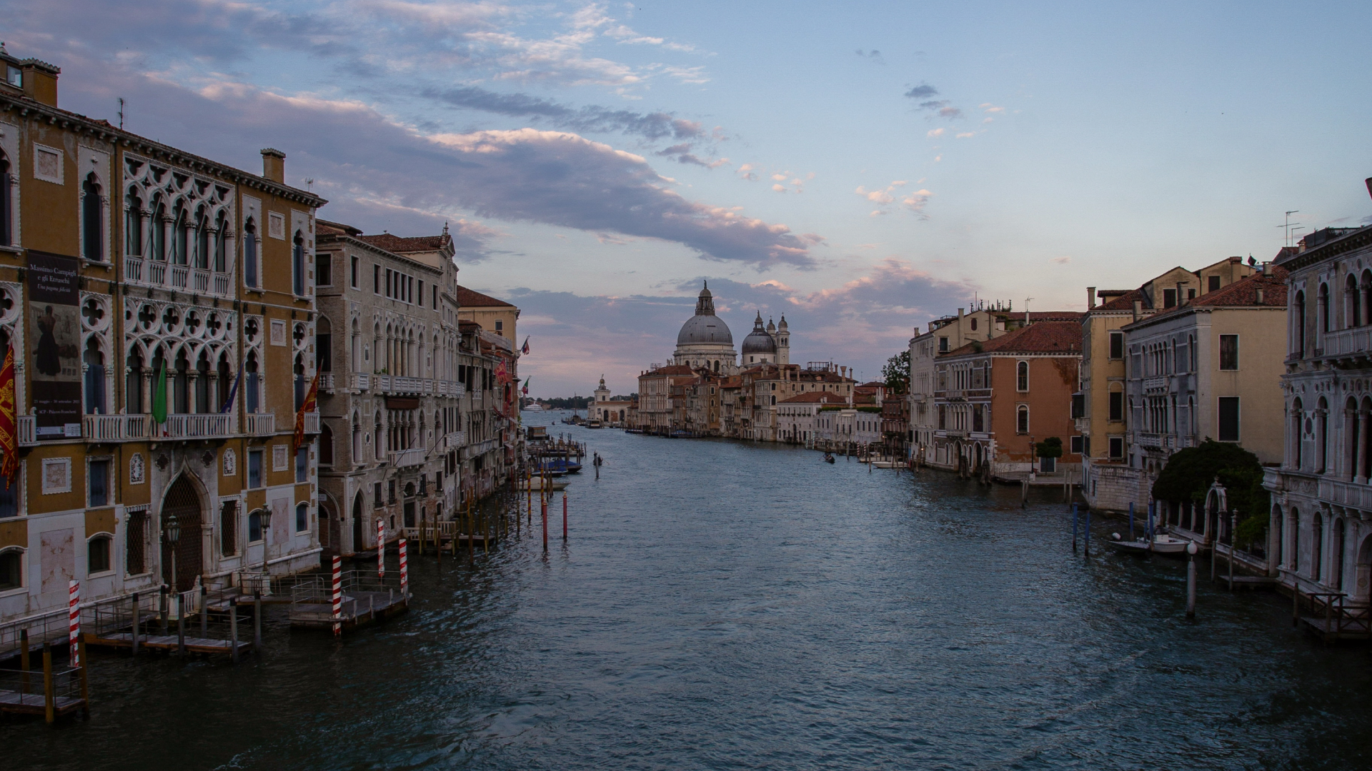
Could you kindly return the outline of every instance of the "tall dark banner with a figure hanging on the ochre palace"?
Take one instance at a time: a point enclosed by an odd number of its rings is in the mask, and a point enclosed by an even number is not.
[[[29,250],[29,388],[38,439],[81,436],[81,292],[73,257]]]

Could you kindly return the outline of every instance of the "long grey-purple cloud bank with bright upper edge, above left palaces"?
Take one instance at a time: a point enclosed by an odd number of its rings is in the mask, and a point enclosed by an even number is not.
[[[328,218],[477,217],[679,243],[707,259],[812,266],[789,228],[689,200],[638,155],[575,133],[517,129],[425,133],[350,100],[281,96],[220,82],[198,92],[82,59],[66,86],[75,108],[126,95],[143,125],[188,151],[229,161],[279,147],[288,181],[311,177]],[[359,152],[358,148],[366,148]],[[344,220],[346,221],[346,220]],[[357,222],[366,228],[365,222]]]

